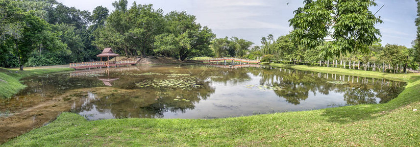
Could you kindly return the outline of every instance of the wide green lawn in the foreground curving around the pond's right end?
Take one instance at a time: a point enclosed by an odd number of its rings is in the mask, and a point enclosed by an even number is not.
[[[325,67],[274,66],[408,82],[385,104],[275,113],[214,120],[112,119],[86,121],[62,113],[56,121],[5,146],[420,146],[420,76]]]

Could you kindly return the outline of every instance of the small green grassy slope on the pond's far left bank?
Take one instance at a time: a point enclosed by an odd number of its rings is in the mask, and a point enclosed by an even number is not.
[[[27,76],[45,74],[45,73],[55,73],[62,71],[73,71],[74,69],[70,68],[56,68],[56,69],[28,69],[25,71],[19,71],[16,69],[5,69],[0,68],[0,79],[6,81],[0,81],[0,98],[9,98],[19,92],[19,90],[24,89],[26,86],[23,85],[19,79]],[[10,71],[10,72],[8,72]],[[18,71],[18,73],[15,73]]]

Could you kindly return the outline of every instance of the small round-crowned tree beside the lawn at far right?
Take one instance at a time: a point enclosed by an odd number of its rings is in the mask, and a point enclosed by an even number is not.
[[[396,73],[397,65],[401,66],[408,62],[408,49],[404,46],[387,44],[381,54],[384,60],[391,64]]]

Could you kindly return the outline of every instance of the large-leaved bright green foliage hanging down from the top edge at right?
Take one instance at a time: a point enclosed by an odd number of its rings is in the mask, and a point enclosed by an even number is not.
[[[382,23],[369,10],[374,0],[305,0],[289,20],[293,41],[302,48],[316,48],[323,57],[360,51],[366,53],[380,36]],[[327,37],[331,37],[328,39]],[[324,40],[331,40],[325,44]]]

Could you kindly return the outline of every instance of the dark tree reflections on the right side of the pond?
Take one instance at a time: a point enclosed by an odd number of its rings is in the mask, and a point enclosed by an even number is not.
[[[265,67],[263,69],[250,69],[254,75],[261,76],[260,84],[268,86],[281,86],[286,89],[275,91],[275,94],[285,98],[292,104],[300,104],[301,100],[308,98],[310,92],[328,95],[330,92],[343,93],[347,104],[380,103],[388,102],[404,90],[403,82],[358,77],[351,75],[339,75],[330,73],[314,73]],[[343,81],[349,84],[340,85],[328,83],[328,81]]]

